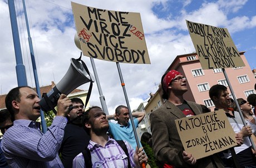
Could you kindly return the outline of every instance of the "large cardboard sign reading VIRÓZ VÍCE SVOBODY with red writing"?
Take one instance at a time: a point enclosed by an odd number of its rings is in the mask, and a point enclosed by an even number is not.
[[[71,4],[83,55],[111,62],[150,64],[140,13]]]

